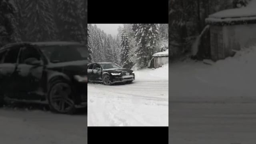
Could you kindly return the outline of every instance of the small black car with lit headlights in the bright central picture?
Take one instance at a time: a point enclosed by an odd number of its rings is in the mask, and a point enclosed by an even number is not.
[[[122,68],[111,62],[91,63],[87,67],[89,82],[102,82],[105,85],[111,85],[116,82],[131,83],[135,80],[132,70]]]

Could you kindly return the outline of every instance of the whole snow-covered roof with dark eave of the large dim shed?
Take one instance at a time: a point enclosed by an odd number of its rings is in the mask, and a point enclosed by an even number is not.
[[[236,25],[256,23],[256,0],[246,7],[222,10],[209,15],[206,22],[212,25]]]

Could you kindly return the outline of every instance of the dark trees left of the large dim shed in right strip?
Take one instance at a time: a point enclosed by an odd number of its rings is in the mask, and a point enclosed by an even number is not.
[[[170,58],[180,58],[191,52],[210,14],[246,4],[248,0],[169,0]]]

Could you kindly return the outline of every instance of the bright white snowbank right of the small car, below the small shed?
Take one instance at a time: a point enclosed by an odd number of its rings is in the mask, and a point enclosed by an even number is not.
[[[135,80],[168,80],[168,67],[169,65],[166,64],[156,69],[146,68],[134,71]]]

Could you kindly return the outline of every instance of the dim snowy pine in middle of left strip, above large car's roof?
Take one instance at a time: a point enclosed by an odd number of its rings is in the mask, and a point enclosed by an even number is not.
[[[49,41],[56,38],[56,25],[53,20],[51,2],[50,0],[26,1],[29,41]]]

